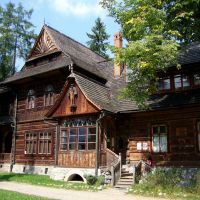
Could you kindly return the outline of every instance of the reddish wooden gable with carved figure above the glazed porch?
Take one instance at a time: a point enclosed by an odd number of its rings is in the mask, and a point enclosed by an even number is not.
[[[55,105],[46,114],[47,117],[61,117],[78,114],[96,113],[99,109],[84,95],[75,81],[67,81],[63,92]]]

